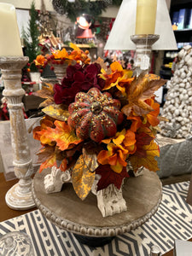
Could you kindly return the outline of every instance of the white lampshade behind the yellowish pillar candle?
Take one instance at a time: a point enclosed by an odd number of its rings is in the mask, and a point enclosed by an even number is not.
[[[104,49],[136,49],[136,44],[131,41],[131,36],[135,34],[136,12],[136,0],[123,0]],[[160,35],[160,39],[154,43],[152,49],[177,49],[166,0],[157,0],[154,34]]]

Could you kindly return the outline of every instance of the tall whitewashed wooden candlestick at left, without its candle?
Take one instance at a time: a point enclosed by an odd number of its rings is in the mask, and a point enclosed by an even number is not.
[[[8,101],[11,144],[15,176],[19,179],[5,196],[7,205],[15,210],[35,207],[32,200],[32,158],[26,137],[26,123],[21,102],[25,90],[21,88],[21,69],[28,62],[28,57],[0,57],[0,69],[4,83],[3,96]]]

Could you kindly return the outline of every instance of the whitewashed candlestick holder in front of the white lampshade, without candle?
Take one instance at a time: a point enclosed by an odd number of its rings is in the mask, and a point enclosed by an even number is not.
[[[142,73],[148,73],[150,67],[152,45],[160,38],[159,35],[132,35],[131,41],[136,44],[136,59],[134,67],[136,68],[137,76]],[[147,56],[148,65],[143,65],[143,56]],[[143,67],[144,68],[143,68]]]

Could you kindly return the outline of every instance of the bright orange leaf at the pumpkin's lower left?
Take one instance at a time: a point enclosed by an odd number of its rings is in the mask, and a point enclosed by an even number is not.
[[[54,140],[60,150],[73,148],[73,145],[82,142],[82,139],[75,135],[73,129],[66,122],[55,120],[54,124],[55,129],[48,128],[44,135]]]

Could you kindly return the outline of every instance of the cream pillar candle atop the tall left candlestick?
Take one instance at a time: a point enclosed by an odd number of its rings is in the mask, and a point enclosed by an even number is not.
[[[15,7],[0,3],[0,56],[23,56]]]

